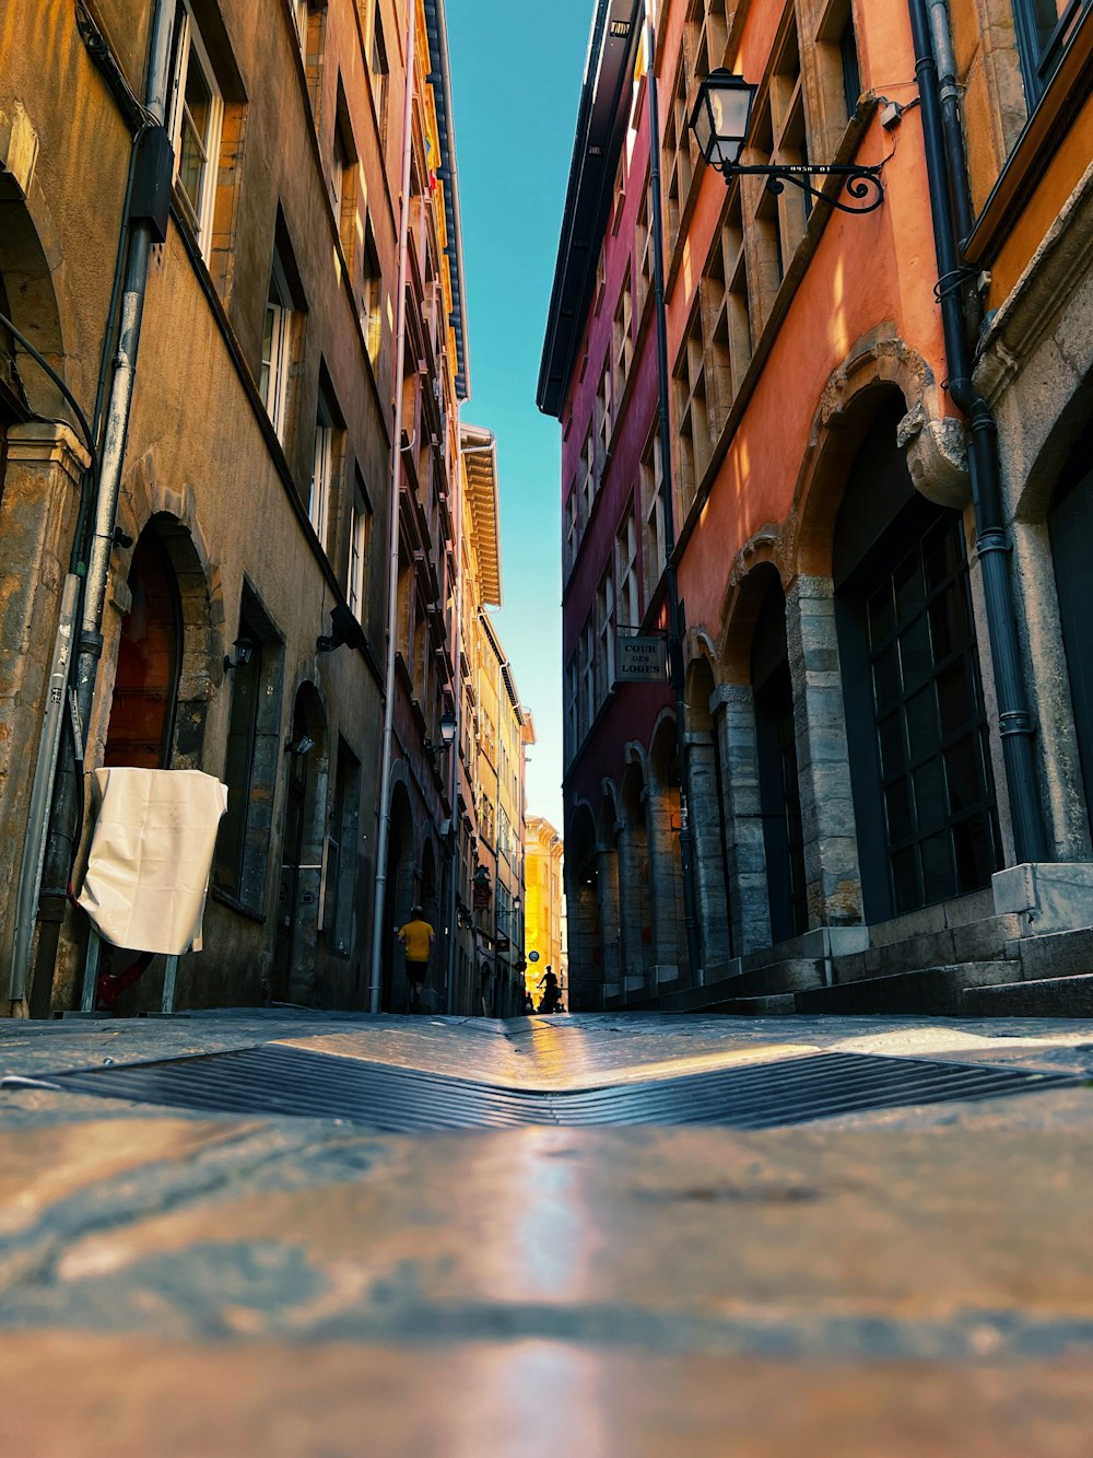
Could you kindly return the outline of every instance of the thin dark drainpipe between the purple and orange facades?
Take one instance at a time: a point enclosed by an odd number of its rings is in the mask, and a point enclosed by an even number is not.
[[[683,881],[683,919],[686,923],[686,955],[691,964],[691,983],[695,987],[701,987],[704,974],[698,943],[698,907],[691,853],[691,818],[688,812],[689,757],[686,752],[683,642],[679,623],[679,586],[675,563],[672,416],[667,386],[667,315],[665,311],[665,222],[660,198],[660,111],[656,73],[656,7],[653,4],[649,6],[646,15],[646,50],[649,54],[649,182],[653,194],[653,287],[656,295],[657,378],[660,385],[660,462],[665,497],[665,577],[667,579],[669,665],[676,694],[676,758],[679,761],[679,869]]]

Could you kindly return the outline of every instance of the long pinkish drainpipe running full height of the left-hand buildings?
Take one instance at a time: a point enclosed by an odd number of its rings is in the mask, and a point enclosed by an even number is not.
[[[391,834],[391,755],[395,741],[395,652],[398,637],[398,509],[402,490],[402,370],[407,362],[407,273],[410,258],[410,163],[414,152],[414,51],[417,0],[410,0],[407,23],[407,85],[402,104],[402,206],[398,229],[398,308],[395,322],[395,423],[391,440],[391,534],[388,560],[388,662],[383,703],[383,748],[376,835],[376,895],[372,908],[372,971],[369,1012],[379,1012],[383,983],[383,916],[388,889],[388,838]]]

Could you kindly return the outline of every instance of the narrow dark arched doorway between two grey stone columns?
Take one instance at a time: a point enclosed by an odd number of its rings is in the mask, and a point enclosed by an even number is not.
[[[786,642],[786,595],[777,572],[764,567],[759,574],[767,579],[767,592],[755,621],[751,663],[759,809],[771,940],[784,942],[809,929],[797,720]]]

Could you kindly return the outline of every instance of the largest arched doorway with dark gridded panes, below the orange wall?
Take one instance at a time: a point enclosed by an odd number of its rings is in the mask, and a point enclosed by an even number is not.
[[[857,452],[834,583],[869,921],[990,884],[1000,863],[963,521],[918,496],[902,397]]]

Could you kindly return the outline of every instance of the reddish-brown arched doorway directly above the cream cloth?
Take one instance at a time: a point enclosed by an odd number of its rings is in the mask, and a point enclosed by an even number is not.
[[[103,763],[166,770],[182,662],[182,605],[171,557],[152,526],[133,553],[128,590]]]

